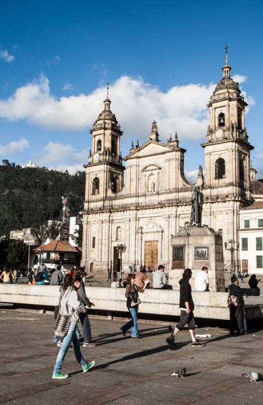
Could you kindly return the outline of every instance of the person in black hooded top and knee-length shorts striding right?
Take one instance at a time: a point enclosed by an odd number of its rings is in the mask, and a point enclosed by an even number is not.
[[[176,336],[178,332],[180,332],[184,328],[186,323],[188,323],[188,330],[192,339],[192,346],[204,346],[204,343],[198,342],[198,340],[195,338],[195,318],[193,313],[195,306],[192,298],[192,289],[189,283],[191,277],[192,270],[185,269],[183,278],[179,281],[181,315],[176,328],[174,328],[171,336],[166,339],[166,343],[171,346],[176,346],[176,343],[174,343],[174,336]]]

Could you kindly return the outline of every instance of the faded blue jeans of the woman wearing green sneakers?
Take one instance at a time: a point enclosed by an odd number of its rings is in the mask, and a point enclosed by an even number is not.
[[[77,359],[77,362],[82,366],[85,367],[87,365],[86,360],[82,357],[80,348],[79,348],[79,341],[78,338],[76,336],[76,329],[77,326],[75,323],[70,323],[69,326],[69,330],[67,335],[64,337],[63,339],[63,343],[62,346],[60,348],[57,360],[56,360],[56,364],[55,364],[55,368],[54,368],[54,373],[60,373],[61,371],[61,367],[65,358],[65,355],[68,351],[69,345],[72,342],[73,344],[73,349],[74,349],[74,353]]]

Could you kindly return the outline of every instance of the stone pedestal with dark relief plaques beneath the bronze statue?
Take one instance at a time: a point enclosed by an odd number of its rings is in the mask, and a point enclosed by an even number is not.
[[[209,290],[225,291],[225,273],[222,236],[205,226],[188,226],[171,237],[171,270],[169,284],[179,290],[179,280],[184,269],[192,270],[190,284],[194,291],[196,274],[203,266],[208,267]]]

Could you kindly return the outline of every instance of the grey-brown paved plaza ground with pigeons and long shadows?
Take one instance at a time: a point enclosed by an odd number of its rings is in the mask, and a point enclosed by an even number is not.
[[[123,337],[122,320],[91,318],[96,347],[82,348],[87,360],[96,360],[82,373],[72,349],[62,372],[66,380],[52,380],[59,348],[52,343],[52,314],[0,308],[1,394],[7,405],[79,404],[125,405],[222,403],[261,404],[263,381],[250,383],[242,373],[263,371],[262,338],[258,329],[247,336],[230,337],[221,328],[198,328],[211,334],[205,347],[192,347],[182,331],[178,347],[165,343],[168,324],[140,321],[143,339]],[[186,378],[170,374],[187,366]]]

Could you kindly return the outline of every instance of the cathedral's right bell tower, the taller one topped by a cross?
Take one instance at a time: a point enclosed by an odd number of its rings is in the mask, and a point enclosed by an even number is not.
[[[226,46],[223,77],[210,97],[208,108],[210,125],[205,149],[205,186],[220,197],[224,194],[251,200],[250,150],[245,127],[247,103],[238,83],[230,75]]]

